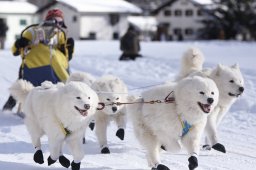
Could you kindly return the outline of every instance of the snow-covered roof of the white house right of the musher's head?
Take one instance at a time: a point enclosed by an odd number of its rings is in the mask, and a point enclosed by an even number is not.
[[[124,0],[58,0],[78,12],[141,13],[142,10]]]

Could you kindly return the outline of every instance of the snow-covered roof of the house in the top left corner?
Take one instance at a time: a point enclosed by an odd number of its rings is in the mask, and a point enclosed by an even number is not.
[[[34,14],[37,6],[25,1],[0,1],[0,13]]]

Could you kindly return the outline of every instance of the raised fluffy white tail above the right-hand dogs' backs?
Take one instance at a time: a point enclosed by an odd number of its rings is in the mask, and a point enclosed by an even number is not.
[[[201,71],[203,63],[203,53],[198,48],[189,48],[182,56],[180,71],[176,76],[176,80],[181,80],[193,72]]]

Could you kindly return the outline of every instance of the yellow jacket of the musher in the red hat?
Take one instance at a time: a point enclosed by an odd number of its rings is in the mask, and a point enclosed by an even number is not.
[[[58,79],[65,82],[69,77],[65,33],[62,31],[55,33],[54,36],[57,43],[50,47],[42,42],[37,42],[39,39],[37,34],[38,28],[38,26],[33,26],[25,30],[22,37],[30,41],[29,45],[24,49],[17,49],[13,45],[12,52],[14,54],[18,50],[21,53],[23,67],[26,66],[28,69],[34,69],[50,65]],[[61,48],[62,50],[60,50]]]

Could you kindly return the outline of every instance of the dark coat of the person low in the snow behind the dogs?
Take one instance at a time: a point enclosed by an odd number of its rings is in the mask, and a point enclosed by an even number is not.
[[[121,38],[120,49],[124,54],[138,54],[140,51],[139,36],[135,31],[128,30]]]

